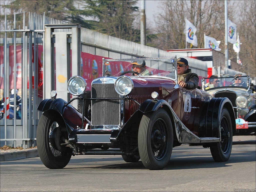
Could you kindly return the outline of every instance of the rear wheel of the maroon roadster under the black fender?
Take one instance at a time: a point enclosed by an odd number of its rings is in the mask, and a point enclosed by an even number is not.
[[[231,118],[226,108],[221,111],[220,136],[221,141],[211,144],[210,150],[214,161],[225,162],[230,157],[233,141]]]

